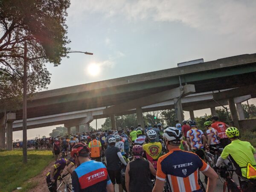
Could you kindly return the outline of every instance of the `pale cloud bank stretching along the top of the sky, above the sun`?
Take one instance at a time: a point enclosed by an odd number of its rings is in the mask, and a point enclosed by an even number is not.
[[[221,34],[256,33],[255,0],[72,0],[70,17],[96,13],[105,18],[123,16],[129,21],[180,22]]]

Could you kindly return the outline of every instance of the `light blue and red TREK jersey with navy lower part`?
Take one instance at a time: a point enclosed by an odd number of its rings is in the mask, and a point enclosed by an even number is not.
[[[101,162],[93,160],[84,162],[72,173],[73,191],[105,192],[106,186],[110,183],[108,171]]]

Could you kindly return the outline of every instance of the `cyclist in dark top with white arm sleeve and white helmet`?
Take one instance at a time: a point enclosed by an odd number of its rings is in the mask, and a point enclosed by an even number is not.
[[[126,166],[127,163],[125,159],[122,157],[121,151],[119,148],[115,146],[116,139],[114,137],[109,138],[108,140],[109,148],[105,151],[105,156],[107,160],[107,170],[108,175],[111,179],[113,186],[118,184],[119,191],[122,191],[122,184],[121,184],[121,167],[120,161]]]

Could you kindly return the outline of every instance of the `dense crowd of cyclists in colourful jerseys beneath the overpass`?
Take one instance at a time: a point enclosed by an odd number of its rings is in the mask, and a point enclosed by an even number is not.
[[[138,124],[54,138],[56,162],[47,174],[48,189],[56,191],[67,166],[74,192],[113,192],[115,185],[119,192],[213,192],[220,172],[234,166],[243,178],[238,189],[255,191],[256,151],[249,142],[239,140],[237,128],[218,121],[218,116],[207,119],[203,131],[195,120],[182,124],[144,128]],[[221,155],[212,164],[205,151],[216,150]],[[199,172],[205,175],[207,189]]]

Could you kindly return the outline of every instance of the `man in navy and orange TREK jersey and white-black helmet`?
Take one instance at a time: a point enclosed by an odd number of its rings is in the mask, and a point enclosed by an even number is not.
[[[207,192],[213,192],[218,175],[196,154],[180,150],[180,130],[174,127],[166,128],[163,137],[169,152],[157,162],[153,192],[163,192],[165,180],[172,192],[202,192],[198,184],[198,170],[209,177]]]

